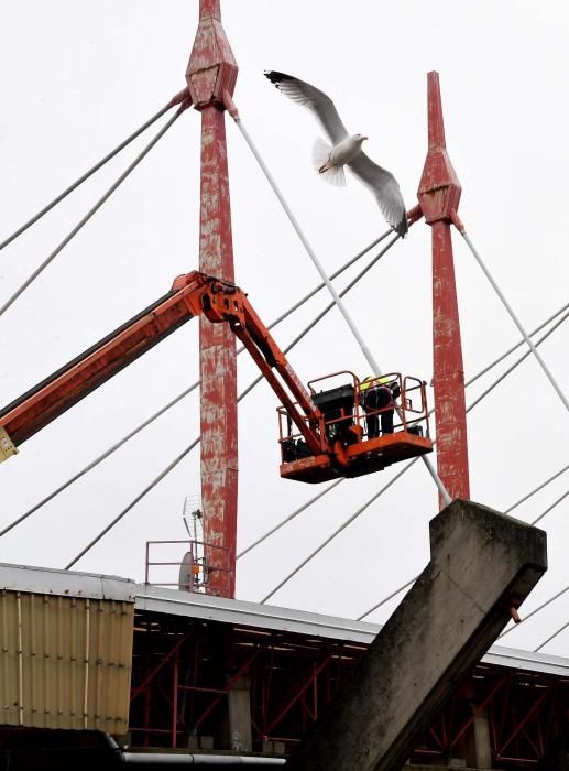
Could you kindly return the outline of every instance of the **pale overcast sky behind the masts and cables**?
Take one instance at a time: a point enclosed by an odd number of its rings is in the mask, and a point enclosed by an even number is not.
[[[184,86],[197,0],[4,0],[0,31],[0,237],[157,111]],[[568,301],[569,160],[567,3],[409,0],[222,0],[240,73],[236,102],[320,260],[331,272],[385,229],[354,180],[314,174],[311,116],[282,97],[264,69],[306,79],[335,99],[349,130],[400,181],[411,207],[426,152],[426,73],[440,74],[450,158],[463,186],[460,215],[527,328]],[[271,322],[319,279],[228,120],[236,273]],[[152,130],[147,139],[152,135]],[[144,142],[0,253],[0,303],[52,251]],[[8,403],[167,291],[198,265],[199,116],[188,111],[56,261],[0,318],[0,402]],[[466,245],[455,237],[464,368],[472,377],[518,333]],[[339,279],[337,286],[354,275]],[[347,304],[384,370],[431,377],[430,234],[412,229]],[[275,337],[284,347],[321,307],[321,293]],[[541,352],[569,392],[562,326]],[[335,311],[289,356],[306,382],[368,366]],[[510,363],[510,361],[508,361]],[[502,367],[502,370],[505,366]],[[239,357],[240,388],[256,372]],[[490,384],[485,376],[467,403]],[[197,324],[22,445],[0,466],[0,523],[122,437],[198,377]],[[276,401],[266,386],[240,405],[239,547],[317,488],[281,480]],[[569,415],[535,361],[526,361],[469,415],[471,495],[505,509],[568,463]],[[0,560],[64,566],[199,432],[197,392],[94,473],[4,536]],[[78,568],[143,577],[150,539],[184,537],[182,507],[199,493],[195,450],[97,545]],[[309,551],[396,473],[346,481],[238,563],[238,596],[261,599]],[[530,521],[567,489],[560,477],[515,514]],[[569,498],[543,522],[550,568],[532,607],[569,584]],[[428,560],[437,496],[416,464],[273,599],[354,618]],[[372,619],[384,620],[394,602]],[[558,600],[508,644],[534,648],[569,619]],[[546,650],[563,653],[569,632]]]

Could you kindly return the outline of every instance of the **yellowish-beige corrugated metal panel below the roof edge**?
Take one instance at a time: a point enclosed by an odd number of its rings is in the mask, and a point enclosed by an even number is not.
[[[134,604],[0,590],[0,723],[128,729]]]

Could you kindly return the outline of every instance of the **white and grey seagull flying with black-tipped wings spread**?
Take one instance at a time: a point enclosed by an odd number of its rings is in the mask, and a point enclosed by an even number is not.
[[[347,165],[373,194],[387,222],[403,238],[408,228],[400,186],[393,174],[379,166],[362,151],[362,142],[368,137],[349,135],[333,101],[309,83],[273,70],[265,73],[265,77],[289,99],[311,110],[320,121],[331,144],[321,139],[316,140],[313,160],[318,173],[333,185],[346,185],[343,166]]]

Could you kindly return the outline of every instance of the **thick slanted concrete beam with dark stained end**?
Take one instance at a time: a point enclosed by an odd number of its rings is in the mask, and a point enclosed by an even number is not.
[[[402,768],[546,569],[545,532],[455,500],[430,522],[427,567],[286,768]]]

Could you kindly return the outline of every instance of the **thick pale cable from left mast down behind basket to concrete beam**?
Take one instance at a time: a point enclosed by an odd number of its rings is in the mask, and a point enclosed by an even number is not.
[[[245,142],[247,142],[247,144],[249,145],[249,149],[250,149],[251,152],[253,153],[253,156],[255,158],[256,162],[259,163],[259,165],[260,165],[260,167],[261,167],[261,171],[262,171],[263,174],[265,175],[266,181],[267,181],[269,184],[271,185],[271,187],[272,187],[274,194],[276,195],[276,197],[277,197],[277,199],[278,199],[278,203],[280,203],[281,206],[283,207],[283,210],[285,211],[286,216],[288,217],[288,220],[289,220],[291,225],[293,226],[293,228],[295,229],[296,235],[297,235],[298,238],[300,239],[300,242],[303,243],[303,246],[304,246],[304,248],[305,248],[305,250],[306,250],[308,257],[309,257],[310,260],[313,261],[314,267],[316,268],[316,270],[317,270],[318,273],[320,274],[320,278],[321,278],[322,281],[325,282],[325,284],[326,284],[326,286],[327,286],[327,289],[328,289],[328,292],[329,292],[330,295],[332,296],[333,302],[336,303],[338,310],[340,311],[340,313],[342,314],[342,316],[343,316],[346,323],[348,324],[348,327],[350,328],[350,332],[352,333],[352,335],[353,335],[353,337],[355,338],[358,345],[360,346],[360,349],[361,349],[361,351],[362,351],[362,354],[363,354],[365,360],[366,360],[368,363],[370,365],[370,367],[371,367],[371,369],[372,369],[372,371],[373,371],[373,374],[375,374],[375,376],[381,376],[381,373],[382,373],[381,367],[379,366],[379,363],[377,363],[377,361],[375,360],[374,356],[372,355],[371,350],[368,348],[368,346],[366,346],[366,344],[365,344],[363,337],[362,337],[361,334],[360,334],[360,330],[358,329],[358,327],[355,326],[353,319],[351,318],[350,314],[348,313],[348,308],[347,308],[346,305],[342,303],[341,297],[338,295],[338,293],[336,292],[336,290],[335,290],[332,283],[329,281],[328,276],[326,275],[326,271],[324,270],[322,264],[320,263],[318,257],[316,256],[316,252],[314,251],[314,249],[311,248],[310,243],[308,242],[306,236],[304,235],[304,231],[302,230],[302,228],[300,228],[300,226],[299,226],[299,224],[298,224],[296,217],[294,216],[294,214],[293,214],[293,211],[291,210],[288,204],[286,203],[286,200],[285,200],[283,194],[281,193],[281,191],[280,191],[280,188],[278,188],[278,185],[276,184],[276,181],[274,180],[273,175],[272,175],[271,172],[269,171],[269,167],[266,166],[265,162],[263,161],[261,154],[259,153],[259,150],[256,149],[256,146],[255,146],[253,140],[251,139],[251,135],[249,134],[249,132],[248,132],[247,129],[244,128],[243,122],[242,122],[241,118],[239,117],[239,115],[237,113],[237,111],[232,111],[232,118],[233,118],[234,122],[237,123],[237,127],[239,128],[239,130],[240,130],[242,137],[244,138],[244,140],[245,140]],[[423,459],[423,463],[424,463],[425,466],[427,467],[427,469],[428,469],[428,471],[429,471],[429,474],[430,474],[433,480],[435,481],[435,485],[437,486],[438,491],[439,491],[440,496],[442,497],[442,500],[444,500],[446,503],[450,503],[450,496],[449,496],[449,493],[447,492],[447,490],[446,490],[446,488],[445,488],[445,485],[444,485],[442,481],[440,480],[440,478],[439,478],[437,471],[435,470],[435,467],[433,466],[433,464],[430,463],[430,460],[427,458],[426,455],[422,455],[420,457],[422,457],[422,459]]]

